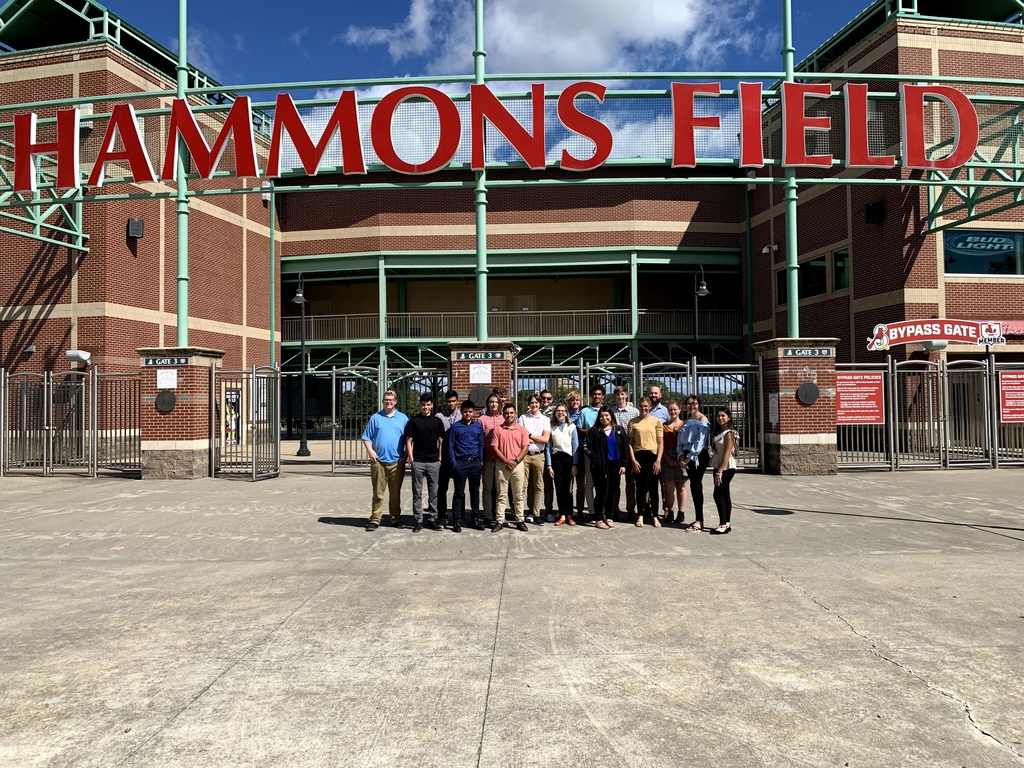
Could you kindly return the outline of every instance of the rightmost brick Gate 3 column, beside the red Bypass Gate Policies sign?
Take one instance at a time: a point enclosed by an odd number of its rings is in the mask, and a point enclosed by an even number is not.
[[[771,339],[754,345],[763,372],[761,415],[767,474],[836,474],[838,342]]]

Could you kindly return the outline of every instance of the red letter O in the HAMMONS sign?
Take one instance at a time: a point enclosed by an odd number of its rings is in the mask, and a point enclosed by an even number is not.
[[[399,158],[394,148],[394,139],[391,136],[394,111],[402,101],[416,97],[425,98],[434,105],[440,124],[437,150],[430,157],[430,160],[421,165],[407,163]],[[377,153],[377,157],[384,165],[398,173],[421,174],[439,171],[452,162],[452,158],[459,150],[461,137],[462,120],[459,118],[459,108],[446,94],[436,88],[413,85],[393,90],[380,100],[370,121],[370,138],[374,144],[374,152]]]

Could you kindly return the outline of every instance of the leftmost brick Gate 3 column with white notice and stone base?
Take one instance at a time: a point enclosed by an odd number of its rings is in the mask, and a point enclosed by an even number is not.
[[[209,477],[210,378],[224,353],[197,347],[137,351],[142,368],[142,479]]]

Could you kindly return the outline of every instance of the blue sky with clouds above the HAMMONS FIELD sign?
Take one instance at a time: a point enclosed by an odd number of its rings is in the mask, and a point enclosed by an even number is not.
[[[105,0],[176,49],[176,0]],[[868,0],[793,0],[797,60]],[[736,8],[739,10],[736,10]],[[778,71],[780,0],[486,0],[487,71]],[[189,59],[224,85],[472,72],[473,0],[193,0]]]

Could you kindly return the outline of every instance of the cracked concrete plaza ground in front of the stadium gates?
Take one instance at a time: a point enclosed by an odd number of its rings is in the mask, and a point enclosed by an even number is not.
[[[727,537],[370,534],[329,469],[0,478],[0,766],[1024,765],[1022,469],[744,474]]]

